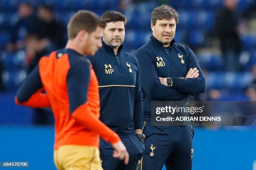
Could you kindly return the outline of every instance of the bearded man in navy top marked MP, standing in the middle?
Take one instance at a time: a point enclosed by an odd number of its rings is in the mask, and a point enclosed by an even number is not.
[[[104,170],[135,170],[144,151],[138,61],[123,51],[125,16],[108,11],[101,19],[107,23],[102,47],[95,56],[89,57],[99,81],[100,120],[120,136],[130,155],[129,163],[125,165],[123,161],[112,157],[113,147],[101,139],[102,167]]]

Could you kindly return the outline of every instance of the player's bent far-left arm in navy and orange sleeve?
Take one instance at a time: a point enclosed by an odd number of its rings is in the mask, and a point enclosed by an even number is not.
[[[15,102],[18,105],[28,107],[51,107],[51,103],[44,90],[41,78],[39,75],[38,65],[23,82],[15,96]]]

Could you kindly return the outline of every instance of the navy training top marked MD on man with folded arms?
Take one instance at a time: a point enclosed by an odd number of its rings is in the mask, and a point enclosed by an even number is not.
[[[151,101],[189,101],[189,95],[205,92],[205,76],[194,52],[175,43],[175,40],[166,48],[152,35],[134,55],[141,69],[145,121],[151,121]],[[194,67],[199,70],[199,77],[185,79],[188,70]],[[159,77],[171,77],[172,87],[162,85]],[[181,122],[180,125],[188,124],[189,122]]]

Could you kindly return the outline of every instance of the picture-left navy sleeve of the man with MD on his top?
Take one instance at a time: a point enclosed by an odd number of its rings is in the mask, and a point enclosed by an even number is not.
[[[141,87],[150,100],[181,100],[187,96],[161,84],[154,60],[148,52],[137,50],[134,55],[140,65]]]

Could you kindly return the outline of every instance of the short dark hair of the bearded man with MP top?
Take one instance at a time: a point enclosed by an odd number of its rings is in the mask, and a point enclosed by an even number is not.
[[[101,20],[105,21],[106,23],[121,21],[126,25],[126,17],[120,12],[116,11],[107,11],[101,16]]]

